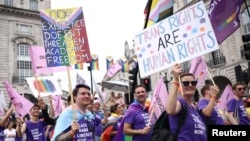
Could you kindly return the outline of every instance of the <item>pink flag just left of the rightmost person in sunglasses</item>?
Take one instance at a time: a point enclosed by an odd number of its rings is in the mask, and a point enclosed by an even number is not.
[[[216,107],[220,110],[224,110],[227,106],[228,101],[234,97],[233,90],[231,85],[227,85],[226,88],[224,89]]]

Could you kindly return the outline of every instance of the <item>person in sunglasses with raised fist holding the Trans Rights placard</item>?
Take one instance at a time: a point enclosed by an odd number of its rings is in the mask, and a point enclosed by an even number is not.
[[[177,134],[177,141],[207,141],[206,125],[192,106],[197,81],[191,73],[182,73],[181,65],[172,67],[173,82],[166,103],[170,130],[176,133],[178,122],[185,112],[184,124]],[[181,93],[178,89],[181,88]],[[184,111],[185,110],[185,111]]]

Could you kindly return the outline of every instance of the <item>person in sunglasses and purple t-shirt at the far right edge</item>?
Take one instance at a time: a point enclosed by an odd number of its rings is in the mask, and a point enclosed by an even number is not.
[[[244,107],[243,97],[246,96],[246,86],[243,82],[236,82],[233,86],[234,98],[227,104],[227,117],[232,125],[249,125],[249,119]]]

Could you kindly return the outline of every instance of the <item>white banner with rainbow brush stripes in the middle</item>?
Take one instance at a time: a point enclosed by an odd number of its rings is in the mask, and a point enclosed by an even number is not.
[[[38,97],[39,93],[41,97],[63,94],[56,78],[53,76],[37,77],[37,80],[35,77],[26,77],[26,81],[35,97]]]

